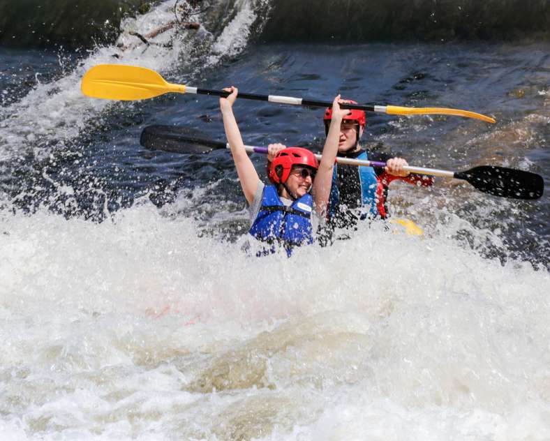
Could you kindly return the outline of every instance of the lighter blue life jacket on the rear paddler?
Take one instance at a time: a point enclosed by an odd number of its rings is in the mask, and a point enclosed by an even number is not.
[[[357,159],[368,160],[369,156],[366,151],[363,151]],[[328,216],[331,218],[339,209],[340,204],[340,183],[338,179],[338,165],[334,165],[334,171],[332,172],[332,186],[330,188]],[[357,167],[357,173],[353,176],[355,179],[359,179],[359,186],[361,189],[361,197],[356,207],[348,207],[351,209],[363,207],[361,218],[375,218],[380,216],[378,207],[376,206],[376,189],[378,188],[378,179],[376,179],[376,173],[373,167]]]

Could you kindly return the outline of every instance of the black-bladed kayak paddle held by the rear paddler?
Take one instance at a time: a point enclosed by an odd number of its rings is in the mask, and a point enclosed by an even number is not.
[[[229,144],[221,141],[205,140],[191,130],[177,127],[154,125],[143,129],[140,144],[153,150],[172,151],[174,153],[207,153],[214,149],[229,149]],[[267,154],[267,147],[244,146],[249,153]],[[315,155],[318,159],[321,155]],[[336,163],[359,165],[364,167],[385,167],[386,163],[373,160],[360,160],[336,157]],[[544,192],[544,181],[540,174],[516,170],[514,168],[497,167],[496,165],[480,165],[465,172],[449,172],[435,168],[403,167],[411,173],[427,174],[454,179],[462,179],[473,185],[477,190],[494,196],[510,197],[512,199],[538,199]]]

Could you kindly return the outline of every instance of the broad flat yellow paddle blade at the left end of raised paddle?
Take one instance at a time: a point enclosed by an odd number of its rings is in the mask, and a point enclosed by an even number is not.
[[[122,64],[98,64],[82,78],[82,94],[105,100],[145,100],[177,92],[185,86],[170,84],[154,70]]]

